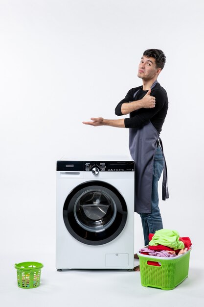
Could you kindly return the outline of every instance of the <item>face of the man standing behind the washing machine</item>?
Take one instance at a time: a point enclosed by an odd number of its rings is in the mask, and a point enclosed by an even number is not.
[[[144,80],[151,80],[158,77],[161,69],[157,68],[156,60],[153,57],[143,55],[138,67],[137,77]]]

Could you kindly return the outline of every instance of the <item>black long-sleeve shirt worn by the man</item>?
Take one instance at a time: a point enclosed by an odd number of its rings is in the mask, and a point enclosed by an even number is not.
[[[139,89],[134,98],[134,94]],[[123,115],[121,112],[121,105],[124,102],[132,102],[142,99],[148,91],[143,91],[142,86],[132,88],[128,91],[126,97],[119,102],[115,108],[115,114],[118,116]],[[168,97],[165,89],[159,83],[153,87],[151,96],[156,98],[156,105],[154,108],[141,108],[130,113],[130,118],[125,118],[125,128],[140,128],[147,124],[149,120],[153,126],[161,132],[167,110],[168,110]]]

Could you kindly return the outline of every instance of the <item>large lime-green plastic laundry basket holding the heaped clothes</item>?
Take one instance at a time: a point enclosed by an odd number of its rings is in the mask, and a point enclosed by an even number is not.
[[[176,257],[155,257],[137,253],[141,285],[172,290],[188,277],[190,250]]]

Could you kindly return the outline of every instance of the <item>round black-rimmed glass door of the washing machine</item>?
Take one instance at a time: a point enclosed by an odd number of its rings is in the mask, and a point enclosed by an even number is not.
[[[87,181],[68,195],[63,218],[80,242],[102,245],[115,239],[127,220],[127,205],[119,191],[103,181]]]

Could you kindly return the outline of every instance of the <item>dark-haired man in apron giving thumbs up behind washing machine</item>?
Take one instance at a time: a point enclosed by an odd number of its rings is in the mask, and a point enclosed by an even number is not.
[[[129,149],[136,163],[135,211],[141,216],[145,246],[149,243],[149,233],[163,228],[158,196],[158,181],[163,167],[162,199],[168,198],[166,165],[159,144],[159,133],[168,110],[168,97],[157,81],[165,59],[161,50],[144,51],[137,74],[142,79],[142,86],[129,90],[115,108],[116,115],[130,114],[130,118],[107,120],[98,117],[91,118],[91,122],[83,122],[92,126],[130,129]]]

